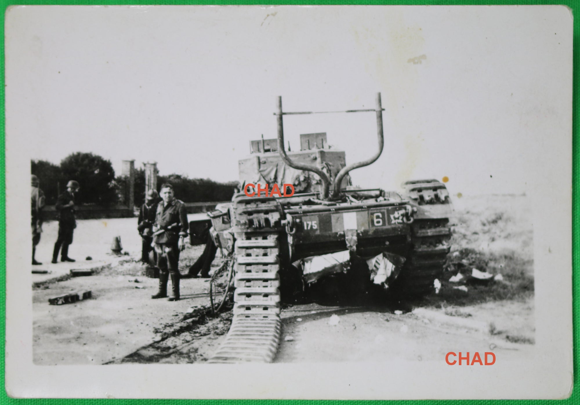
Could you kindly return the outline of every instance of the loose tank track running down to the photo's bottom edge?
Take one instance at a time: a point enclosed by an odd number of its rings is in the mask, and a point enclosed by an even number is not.
[[[271,363],[281,334],[278,233],[246,232],[234,248],[234,317],[208,363]]]

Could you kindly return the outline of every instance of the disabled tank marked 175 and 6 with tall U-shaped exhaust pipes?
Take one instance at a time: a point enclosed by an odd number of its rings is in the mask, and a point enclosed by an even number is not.
[[[230,332],[210,362],[272,361],[281,302],[325,276],[364,268],[387,294],[434,290],[450,249],[444,183],[409,180],[400,191],[351,184],[350,171],[382,154],[383,111],[380,93],[374,109],[343,111],[375,115],[378,143],[367,160],[347,164],[327,133],[302,134],[300,149],[286,150],[284,115],[316,112],[283,111],[277,98],[277,138],[250,141],[249,156],[239,161],[239,192],[209,213],[212,239],[231,264],[225,288],[234,301]],[[316,258],[327,266],[317,267]]]

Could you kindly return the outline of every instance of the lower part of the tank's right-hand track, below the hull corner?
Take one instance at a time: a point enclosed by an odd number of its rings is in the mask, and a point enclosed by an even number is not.
[[[411,250],[401,273],[391,287],[398,295],[422,296],[434,290],[443,274],[451,249],[448,218],[415,219],[411,224]]]

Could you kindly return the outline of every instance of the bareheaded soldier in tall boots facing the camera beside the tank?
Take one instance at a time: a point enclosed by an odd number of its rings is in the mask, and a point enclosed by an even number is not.
[[[157,215],[153,225],[153,245],[157,252],[159,274],[159,291],[151,298],[167,296],[167,280],[171,273],[173,294],[169,301],[179,300],[179,252],[185,249],[187,236],[187,211],[183,201],[173,196],[173,186],[161,186],[162,201],[157,205]],[[168,269],[169,267],[169,269]]]

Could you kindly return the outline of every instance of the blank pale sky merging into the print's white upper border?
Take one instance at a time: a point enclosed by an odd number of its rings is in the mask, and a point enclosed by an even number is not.
[[[284,111],[329,111],[373,108],[380,92],[385,149],[351,172],[355,185],[446,176],[455,194],[525,193],[559,157],[550,142],[571,133],[567,12],[13,7],[6,136],[22,140],[23,164],[83,151],[117,173],[134,159],[230,181],[250,140],[276,138],[277,96]],[[285,116],[284,130],[293,149],[300,133],[327,132],[347,164],[376,150],[374,113]]]

